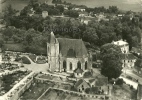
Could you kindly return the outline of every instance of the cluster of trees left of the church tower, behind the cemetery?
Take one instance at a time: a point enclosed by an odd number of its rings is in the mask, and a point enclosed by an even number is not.
[[[1,31],[3,40],[2,43],[13,41],[14,44],[21,44],[24,52],[34,54],[46,54],[46,43],[48,41],[48,33],[40,33],[34,29],[22,30],[13,27],[8,27]],[[3,47],[2,44],[2,47]]]

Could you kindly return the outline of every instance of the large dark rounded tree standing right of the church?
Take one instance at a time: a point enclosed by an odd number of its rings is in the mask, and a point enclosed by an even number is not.
[[[118,78],[121,74],[121,49],[108,43],[101,47],[101,59],[103,61],[101,73],[109,79]]]

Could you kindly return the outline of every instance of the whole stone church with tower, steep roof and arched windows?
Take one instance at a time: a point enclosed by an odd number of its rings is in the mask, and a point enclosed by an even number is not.
[[[51,72],[74,73],[92,67],[91,53],[88,53],[82,39],[56,38],[51,32],[47,43],[47,56]]]

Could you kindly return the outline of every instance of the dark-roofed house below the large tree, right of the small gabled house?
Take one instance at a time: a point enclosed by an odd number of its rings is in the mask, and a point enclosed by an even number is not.
[[[108,78],[104,76],[97,76],[89,80],[89,84],[95,93],[108,94]]]

